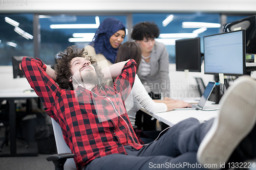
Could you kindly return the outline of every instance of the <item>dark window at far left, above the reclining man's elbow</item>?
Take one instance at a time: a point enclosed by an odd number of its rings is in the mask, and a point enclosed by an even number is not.
[[[33,55],[33,14],[0,14],[0,65],[12,65],[12,56]]]

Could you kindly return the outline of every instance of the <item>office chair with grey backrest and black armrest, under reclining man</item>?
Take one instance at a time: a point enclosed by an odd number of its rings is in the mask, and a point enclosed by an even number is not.
[[[55,170],[75,170],[76,164],[74,159],[68,159],[74,158],[75,154],[71,153],[70,148],[66,144],[59,124],[53,118],[51,120],[58,154],[50,155],[46,159],[53,161]]]

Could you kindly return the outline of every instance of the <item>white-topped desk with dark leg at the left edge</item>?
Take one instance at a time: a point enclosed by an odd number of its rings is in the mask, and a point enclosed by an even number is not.
[[[24,90],[29,89],[1,89],[0,90],[0,100],[9,101],[9,124],[10,124],[10,154],[1,154],[0,156],[26,156],[30,154],[17,154],[16,153],[16,112],[14,100],[20,99],[31,99],[38,98],[34,91],[24,92]],[[32,89],[31,89],[32,90]]]

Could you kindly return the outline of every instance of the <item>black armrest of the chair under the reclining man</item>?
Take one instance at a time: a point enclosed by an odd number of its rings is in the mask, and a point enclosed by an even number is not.
[[[75,154],[62,153],[62,154],[50,155],[46,159],[48,161],[53,162],[53,164],[55,166],[55,170],[63,170],[64,169],[64,164],[67,161],[67,159],[68,158],[74,158],[74,157],[75,157]]]

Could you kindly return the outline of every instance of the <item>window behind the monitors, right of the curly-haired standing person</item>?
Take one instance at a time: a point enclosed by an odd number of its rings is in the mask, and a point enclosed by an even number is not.
[[[203,53],[203,36],[219,33],[219,14],[203,14],[203,13],[136,13],[133,14],[133,25],[143,21],[154,21],[160,29],[160,36],[157,40],[166,45],[169,53],[169,62],[175,63],[175,40],[181,38],[201,38],[201,51]],[[164,21],[164,22],[163,22]],[[169,22],[169,23],[168,23]],[[185,22],[185,23],[184,23]],[[215,23],[211,26],[189,26],[193,23],[189,22],[207,22]],[[208,28],[203,28],[208,27]],[[185,35],[182,33],[186,33]],[[187,34],[189,33],[189,34]],[[167,35],[172,34],[172,35]],[[161,38],[165,37],[165,38]]]

